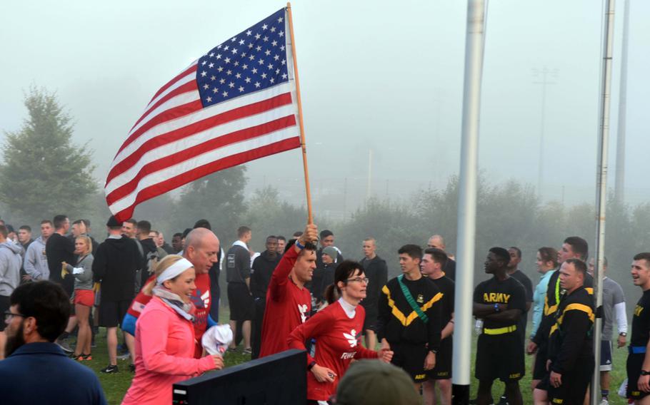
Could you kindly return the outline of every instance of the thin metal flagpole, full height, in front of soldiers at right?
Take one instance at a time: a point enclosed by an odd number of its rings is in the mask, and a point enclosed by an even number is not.
[[[605,248],[605,205],[607,198],[607,152],[609,148],[609,102],[611,91],[611,59],[614,56],[614,0],[605,0],[603,20],[603,62],[601,67],[601,100],[599,112],[598,170],[596,171],[596,319],[594,322],[594,376],[591,379],[591,404],[600,404],[600,350],[603,319],[603,262]]]

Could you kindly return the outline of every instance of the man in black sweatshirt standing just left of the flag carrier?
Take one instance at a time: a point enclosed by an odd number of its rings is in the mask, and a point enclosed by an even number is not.
[[[266,250],[255,258],[251,268],[251,293],[255,302],[255,313],[253,315],[251,331],[252,359],[259,357],[262,321],[264,321],[264,308],[266,307],[266,289],[269,288],[271,275],[279,262],[278,238],[273,235],[266,237]]]

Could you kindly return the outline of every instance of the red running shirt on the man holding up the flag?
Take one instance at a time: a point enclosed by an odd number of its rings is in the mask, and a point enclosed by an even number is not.
[[[287,250],[271,275],[266,292],[259,357],[288,350],[286,338],[299,324],[304,324],[311,312],[309,289],[300,288],[289,280],[297,257],[298,252],[293,247]]]

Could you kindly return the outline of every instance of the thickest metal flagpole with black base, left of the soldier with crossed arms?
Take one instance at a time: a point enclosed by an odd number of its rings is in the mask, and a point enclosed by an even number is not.
[[[454,377],[452,403],[469,404],[474,239],[476,235],[476,180],[479,156],[479,113],[485,9],[483,0],[467,1],[463,125],[458,204],[458,269],[454,299]]]

